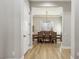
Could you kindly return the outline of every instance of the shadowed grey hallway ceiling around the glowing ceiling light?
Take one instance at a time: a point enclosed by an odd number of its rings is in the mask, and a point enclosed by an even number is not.
[[[56,5],[57,7],[63,7],[63,9],[65,11],[71,11],[71,2],[67,2],[67,1],[53,1],[53,2],[35,2],[35,1],[32,1],[30,2],[30,5],[31,7],[45,7],[45,6],[41,6],[43,5],[44,3],[51,3],[51,5]],[[52,8],[52,7],[51,7]]]

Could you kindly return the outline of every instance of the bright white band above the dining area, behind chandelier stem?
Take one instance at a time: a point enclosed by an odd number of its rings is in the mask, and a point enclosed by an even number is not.
[[[31,8],[31,14],[34,15],[46,15],[46,11],[48,12],[47,15],[60,15],[62,16],[62,7],[32,7]]]

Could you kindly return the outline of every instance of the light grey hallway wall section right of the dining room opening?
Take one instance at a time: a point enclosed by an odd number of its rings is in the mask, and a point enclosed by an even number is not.
[[[64,11],[63,14],[63,47],[71,47],[71,11]]]

